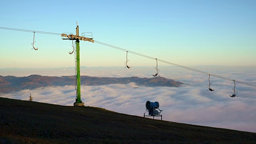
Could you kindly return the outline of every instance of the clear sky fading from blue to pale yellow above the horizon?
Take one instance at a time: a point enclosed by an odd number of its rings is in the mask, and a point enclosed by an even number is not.
[[[183,66],[256,65],[255,0],[2,1],[0,27],[73,32]],[[0,29],[0,68],[74,66],[61,36]],[[126,52],[80,42],[81,66],[124,66]],[[154,66],[128,53],[130,66]],[[159,63],[161,66],[167,64]]]

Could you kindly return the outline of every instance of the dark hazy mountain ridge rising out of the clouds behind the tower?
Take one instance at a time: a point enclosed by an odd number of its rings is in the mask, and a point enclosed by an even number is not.
[[[98,78],[91,76],[81,76],[81,85],[100,86],[105,84],[128,84],[135,82],[138,86],[167,86],[179,87],[182,82],[176,82],[164,77],[139,78],[132,76],[129,78]],[[26,77],[0,76],[0,93],[9,93],[25,89],[34,89],[45,86],[66,86],[75,85],[75,76],[40,76],[31,75]]]

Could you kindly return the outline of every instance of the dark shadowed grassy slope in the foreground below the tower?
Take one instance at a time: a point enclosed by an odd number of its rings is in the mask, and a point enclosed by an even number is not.
[[[256,133],[0,98],[0,143],[256,143]]]

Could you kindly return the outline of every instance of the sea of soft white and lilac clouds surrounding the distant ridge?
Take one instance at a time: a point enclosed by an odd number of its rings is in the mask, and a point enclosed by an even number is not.
[[[256,85],[256,67],[249,66],[193,66],[191,68]],[[210,76],[213,92],[207,91],[208,75],[174,66],[160,69],[160,76],[184,82],[179,88],[145,87],[136,83],[81,86],[81,99],[86,106],[101,107],[115,112],[143,116],[146,101],[158,101],[163,110],[163,120],[256,132],[256,88],[236,83],[238,97],[231,98],[234,82]],[[97,77],[152,78],[154,67],[85,68],[81,75]],[[29,76],[74,75],[70,69],[0,70],[0,75]],[[139,88],[135,88],[139,87]],[[74,86],[50,86],[34,90],[21,90],[0,97],[72,106],[76,91]],[[148,113],[146,112],[146,115]],[[159,119],[159,118],[156,118]]]

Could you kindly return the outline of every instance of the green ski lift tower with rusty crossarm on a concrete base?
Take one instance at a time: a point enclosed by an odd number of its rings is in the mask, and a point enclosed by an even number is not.
[[[85,35],[79,36],[79,27],[76,22],[76,35],[73,34],[61,34],[63,40],[76,40],[76,54],[75,54],[75,61],[76,61],[76,102],[74,102],[74,106],[84,106],[84,102],[81,100],[81,90],[80,90],[80,46],[79,46],[79,40],[94,42],[92,40],[93,38],[86,38]],[[92,36],[92,35],[91,35]],[[68,37],[68,38],[64,38]],[[74,52],[74,46],[73,46],[73,52]],[[73,52],[70,52],[72,54]]]

